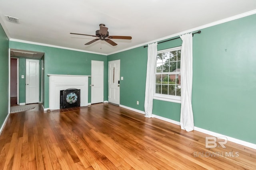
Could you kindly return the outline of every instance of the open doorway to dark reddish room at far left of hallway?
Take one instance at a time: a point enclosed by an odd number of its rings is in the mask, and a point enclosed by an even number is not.
[[[19,59],[10,59],[10,106],[19,104]]]

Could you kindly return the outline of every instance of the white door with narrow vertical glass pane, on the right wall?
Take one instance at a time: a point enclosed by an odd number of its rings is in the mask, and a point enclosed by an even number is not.
[[[120,60],[108,62],[108,102],[120,104]]]

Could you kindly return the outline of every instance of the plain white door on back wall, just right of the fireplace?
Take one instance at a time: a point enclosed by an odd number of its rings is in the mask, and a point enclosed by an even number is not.
[[[104,61],[92,61],[91,104],[104,102]]]

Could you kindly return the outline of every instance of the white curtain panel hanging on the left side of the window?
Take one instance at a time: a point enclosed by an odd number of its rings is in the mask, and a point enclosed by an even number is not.
[[[156,56],[157,56],[157,42],[148,44],[148,64],[147,64],[147,75],[146,75],[145,103],[144,103],[145,117],[152,117]]]

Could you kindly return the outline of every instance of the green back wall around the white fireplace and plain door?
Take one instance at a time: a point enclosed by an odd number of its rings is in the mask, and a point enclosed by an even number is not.
[[[91,75],[91,61],[104,61],[104,101],[107,100],[107,56],[80,51],[72,51],[42,45],[10,41],[12,49],[38,51],[44,55],[44,108],[49,107],[49,77],[47,74]],[[89,78],[89,84],[91,78]],[[91,101],[91,88],[88,89],[88,102]]]

